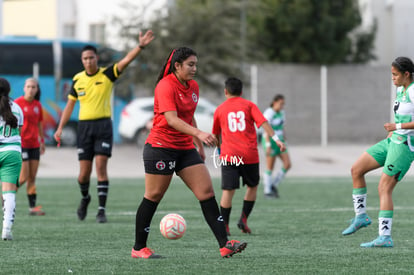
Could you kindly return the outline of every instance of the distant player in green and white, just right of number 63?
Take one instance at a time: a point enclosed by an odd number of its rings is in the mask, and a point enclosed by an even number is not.
[[[267,108],[263,115],[272,126],[273,130],[279,137],[279,139],[286,144],[285,142],[285,112],[283,107],[285,106],[285,97],[283,95],[276,95],[273,98],[270,107]],[[263,134],[262,136],[262,146],[263,150],[266,153],[266,170],[263,176],[264,183],[264,194],[268,198],[279,197],[278,186],[282,182],[282,179],[285,177],[285,174],[291,167],[290,157],[288,149],[281,152],[277,144],[271,139],[271,137]],[[277,172],[276,176],[272,178],[273,168],[275,166],[276,157],[279,156],[283,162],[282,167]]]

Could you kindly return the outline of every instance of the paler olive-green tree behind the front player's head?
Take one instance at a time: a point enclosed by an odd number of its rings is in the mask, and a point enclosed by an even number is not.
[[[245,8],[255,6],[256,1],[250,2]],[[124,8],[131,13],[114,18],[114,23],[119,25],[120,36],[125,41],[136,43],[143,28],[151,28],[156,34],[148,53],[139,57],[140,65],[134,72],[138,82],[153,86],[168,53],[180,46],[197,52],[197,81],[204,89],[221,94],[224,77],[242,77],[239,0],[176,0],[167,11],[165,8],[156,11],[155,19],[147,24],[136,19],[142,18],[142,14],[132,14],[137,10],[133,5],[124,5]]]

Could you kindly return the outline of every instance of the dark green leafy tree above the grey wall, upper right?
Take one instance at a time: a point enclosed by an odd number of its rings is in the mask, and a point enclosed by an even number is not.
[[[335,64],[367,62],[376,28],[352,32],[361,24],[357,0],[264,0],[267,12],[256,18],[257,47],[272,61]]]

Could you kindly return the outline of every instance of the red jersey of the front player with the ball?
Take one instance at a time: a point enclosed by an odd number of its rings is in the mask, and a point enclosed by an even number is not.
[[[153,147],[181,150],[195,148],[193,137],[169,126],[164,116],[167,111],[176,111],[180,119],[192,125],[199,88],[195,80],[187,81],[187,86],[181,84],[172,73],[158,82],[154,92],[153,126],[145,143]]]

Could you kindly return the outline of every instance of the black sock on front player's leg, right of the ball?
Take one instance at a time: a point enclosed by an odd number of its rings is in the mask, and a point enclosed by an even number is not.
[[[220,248],[225,246],[227,239],[227,232],[224,226],[223,217],[220,215],[220,211],[215,197],[211,197],[205,201],[200,201],[201,210],[203,210],[204,218],[213,231]]]

